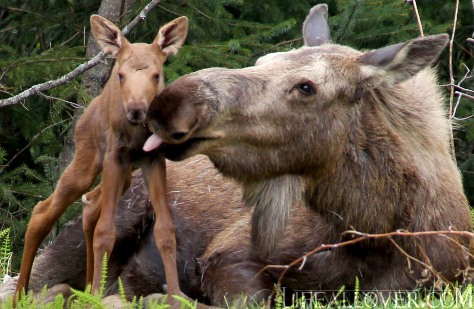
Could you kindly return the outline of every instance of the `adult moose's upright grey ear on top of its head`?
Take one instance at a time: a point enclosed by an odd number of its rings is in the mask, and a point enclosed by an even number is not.
[[[328,26],[328,6],[314,6],[303,23],[303,40],[305,46],[319,46],[331,40]]]

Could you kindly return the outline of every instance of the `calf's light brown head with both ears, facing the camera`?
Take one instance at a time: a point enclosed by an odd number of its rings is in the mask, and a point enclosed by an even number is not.
[[[149,104],[164,89],[166,57],[176,54],[186,39],[188,19],[180,17],[164,25],[152,44],[129,43],[117,26],[98,15],[91,16],[91,28],[104,54],[117,58],[117,70],[110,78],[119,84],[128,121],[143,122]]]

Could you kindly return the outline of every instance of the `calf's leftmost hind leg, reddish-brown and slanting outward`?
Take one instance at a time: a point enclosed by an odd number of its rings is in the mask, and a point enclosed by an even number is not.
[[[94,152],[96,150],[89,149],[87,153],[84,153],[78,148],[73,161],[59,179],[53,194],[39,202],[33,209],[25,235],[25,249],[15,291],[19,297],[21,297],[22,289],[28,290],[31,267],[39,245],[66,208],[91,188],[94,179],[99,174],[100,166],[94,163],[96,156]]]

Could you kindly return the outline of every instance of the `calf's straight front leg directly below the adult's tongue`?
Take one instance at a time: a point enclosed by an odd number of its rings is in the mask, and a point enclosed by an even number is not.
[[[155,210],[155,241],[164,264],[168,303],[173,307],[177,301],[172,295],[181,295],[178,271],[176,269],[176,236],[173,220],[166,203],[166,163],[164,158],[156,158],[150,164],[143,164],[150,199]]]

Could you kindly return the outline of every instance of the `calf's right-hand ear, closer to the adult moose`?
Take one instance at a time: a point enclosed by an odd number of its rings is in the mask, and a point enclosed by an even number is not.
[[[189,21],[184,16],[170,21],[160,28],[153,43],[161,47],[163,54],[176,55],[188,34],[188,24]]]

